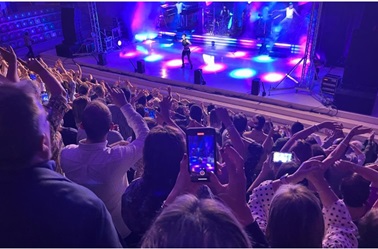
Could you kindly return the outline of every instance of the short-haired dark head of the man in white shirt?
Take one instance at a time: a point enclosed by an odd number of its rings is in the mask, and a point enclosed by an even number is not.
[[[112,114],[104,103],[95,100],[84,109],[82,124],[88,139],[102,142],[112,124]]]

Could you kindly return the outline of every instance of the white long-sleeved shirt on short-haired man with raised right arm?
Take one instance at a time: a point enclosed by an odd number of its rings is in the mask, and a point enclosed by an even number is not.
[[[122,238],[130,230],[121,215],[122,194],[125,191],[123,175],[142,158],[148,127],[130,104],[121,107],[123,115],[134,130],[136,140],[127,146],[107,147],[107,141],[68,145],[61,153],[61,165],[67,178],[92,190],[106,205]]]

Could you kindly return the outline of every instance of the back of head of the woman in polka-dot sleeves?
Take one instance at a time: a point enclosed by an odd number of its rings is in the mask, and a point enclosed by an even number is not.
[[[282,185],[271,202],[266,236],[273,248],[322,247],[319,199],[304,186]]]

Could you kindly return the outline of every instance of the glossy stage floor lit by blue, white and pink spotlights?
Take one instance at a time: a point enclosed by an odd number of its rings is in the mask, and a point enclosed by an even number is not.
[[[191,46],[191,59],[193,69],[185,58],[185,68],[181,68],[182,45],[176,43],[161,43],[159,41],[128,43],[122,45],[121,49],[113,50],[106,54],[107,64],[105,67],[122,71],[134,72],[137,61],[145,63],[145,75],[155,76],[180,82],[194,83],[195,69],[202,69],[206,86],[216,92],[217,89],[228,90],[236,93],[251,93],[252,80],[260,78],[264,82],[267,92],[265,98],[272,98],[293,104],[301,104],[310,107],[321,107],[320,102],[320,80],[314,80],[309,92],[296,92],[298,85],[285,78],[275,88],[281,79],[290,72],[301,59],[300,55],[292,55],[287,58],[272,58],[267,55],[258,55],[258,50],[220,46],[214,47],[207,44],[193,44]],[[53,55],[55,50],[49,50],[45,54]],[[62,58],[63,59],[63,58]],[[97,64],[96,56],[83,55],[74,58],[77,63]],[[63,60],[71,60],[65,58]],[[293,71],[293,76],[298,81],[302,72],[302,63]],[[319,78],[326,73],[342,75],[340,69],[323,68]],[[115,79],[117,80],[117,79]],[[290,89],[291,88],[291,89]],[[270,92],[270,95],[269,95]],[[262,89],[260,91],[260,96]]]

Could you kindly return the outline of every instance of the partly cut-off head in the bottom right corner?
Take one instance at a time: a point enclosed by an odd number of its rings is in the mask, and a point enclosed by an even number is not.
[[[372,208],[358,222],[358,247],[378,248],[378,208]]]

